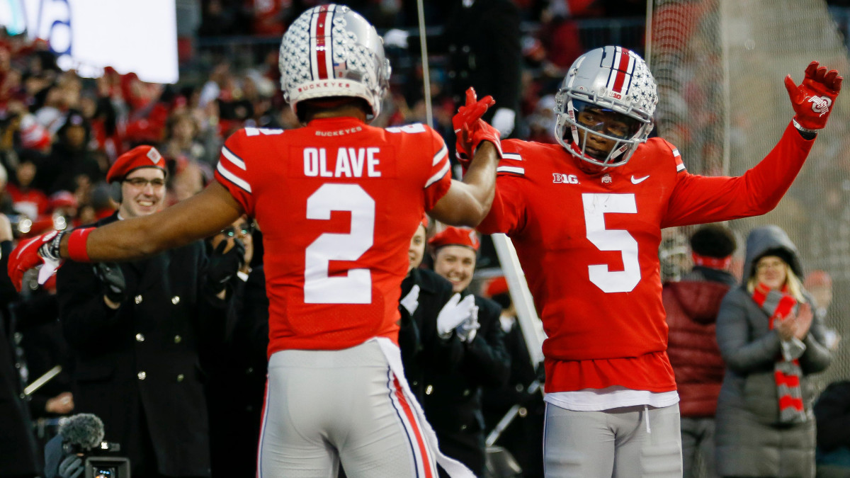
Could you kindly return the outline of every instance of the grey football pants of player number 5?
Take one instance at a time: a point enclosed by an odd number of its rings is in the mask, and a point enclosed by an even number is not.
[[[546,404],[547,478],[679,478],[679,406],[573,412]]]

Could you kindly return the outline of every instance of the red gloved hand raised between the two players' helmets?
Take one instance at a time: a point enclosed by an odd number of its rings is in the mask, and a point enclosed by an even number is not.
[[[469,87],[466,105],[458,108],[455,116],[451,117],[451,125],[455,129],[456,136],[455,151],[464,171],[469,167],[469,162],[481,141],[490,141],[496,145],[501,156],[499,131],[481,121],[481,117],[492,105],[496,105],[496,100],[493,100],[492,96],[485,96],[478,100],[475,88]]]

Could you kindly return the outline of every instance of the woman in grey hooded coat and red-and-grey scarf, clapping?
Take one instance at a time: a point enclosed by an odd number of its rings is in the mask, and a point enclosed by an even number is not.
[[[729,291],[717,316],[727,366],[717,400],[721,476],[814,476],[808,377],[822,372],[831,355],[800,277],[799,253],[784,230],[751,231],[744,281]]]

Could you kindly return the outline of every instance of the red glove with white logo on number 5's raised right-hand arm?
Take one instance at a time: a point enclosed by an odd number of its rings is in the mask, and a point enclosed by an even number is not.
[[[808,65],[800,86],[796,86],[791,75],[785,77],[785,89],[791,97],[796,124],[812,131],[823,129],[842,89],[843,79],[838,76],[838,71],[826,71],[826,67],[819,66],[817,61]]]

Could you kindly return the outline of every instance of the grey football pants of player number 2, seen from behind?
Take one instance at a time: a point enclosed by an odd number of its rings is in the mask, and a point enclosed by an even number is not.
[[[269,360],[258,478],[437,475],[381,348],[281,350]],[[431,473],[429,474],[428,471]]]

